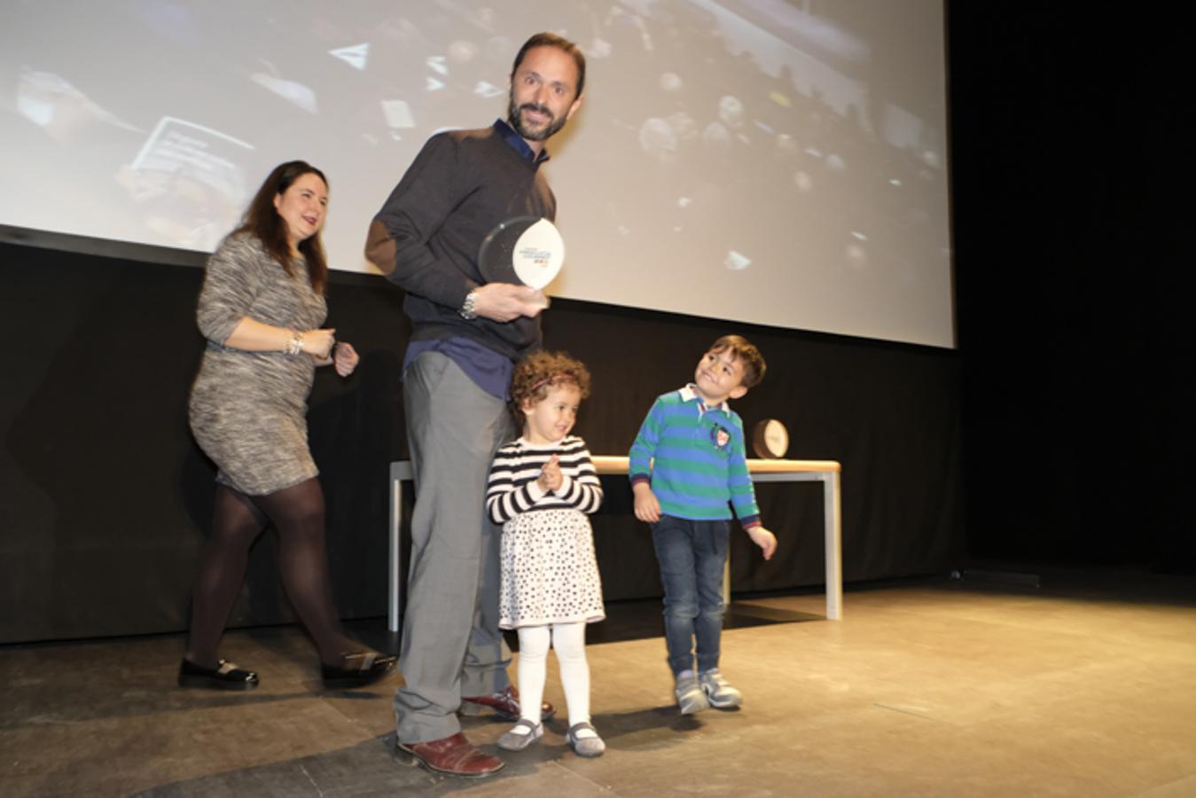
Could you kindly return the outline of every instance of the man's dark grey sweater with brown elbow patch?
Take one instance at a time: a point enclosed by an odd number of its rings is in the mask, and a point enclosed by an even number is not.
[[[391,240],[376,240],[372,230],[367,252],[376,263],[393,258],[389,279],[407,292],[414,341],[463,337],[512,360],[539,345],[538,317],[499,323],[458,313],[486,282],[477,268],[482,240],[500,223],[527,215],[555,219],[556,197],[538,163],[515,152],[499,129],[428,139],[374,218]]]

